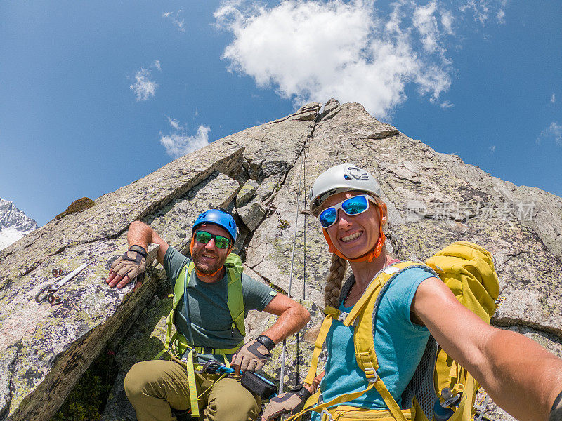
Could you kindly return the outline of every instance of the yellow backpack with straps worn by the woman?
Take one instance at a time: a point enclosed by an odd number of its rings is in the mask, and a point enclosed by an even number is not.
[[[313,402],[318,401],[319,392],[317,392],[307,401],[305,410],[290,417],[287,421],[296,419],[309,410],[321,412],[322,420],[335,420],[342,416],[346,420],[369,419],[370,415],[361,414],[359,412],[361,409],[358,410],[358,408],[339,406],[339,409],[331,408],[329,411],[325,408],[357,399],[372,387],[377,389],[388,406],[388,411],[377,411],[377,415],[374,415],[372,419],[376,417],[378,420],[400,421],[471,420],[479,385],[464,368],[438,347],[433,337],[429,338],[419,366],[403,392],[403,406],[407,409],[403,410],[398,406],[386,389],[384,382],[377,375],[379,364],[377,354],[374,352],[373,328],[374,315],[377,314],[380,299],[398,274],[409,267],[419,265],[422,264],[420,262],[398,262],[385,267],[367,286],[365,293],[349,313],[326,307],[326,317],[322,322],[318,338],[316,338],[311,368],[305,382],[310,384],[317,375],[318,356],[322,351],[322,345],[332,321],[338,319],[345,326],[352,324],[355,326],[353,333],[355,359],[358,366],[365,372],[369,384],[365,390],[360,392],[337,396],[332,401],[311,407]],[[436,272],[436,276],[445,282],[464,307],[476,313],[486,323],[490,323],[490,317],[497,309],[499,283],[492,255],[487,250],[467,241],[457,241],[426,260],[426,266]],[[348,288],[351,288],[351,285],[342,288],[340,300],[345,298]],[[452,412],[452,415],[448,418],[438,418],[433,411],[437,400],[440,402],[440,407],[445,409],[445,412],[447,410]],[[355,410],[355,415],[345,416],[346,410]],[[388,417],[381,412],[388,414]]]

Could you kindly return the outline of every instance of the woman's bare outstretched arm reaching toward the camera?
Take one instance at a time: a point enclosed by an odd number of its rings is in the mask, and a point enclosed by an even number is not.
[[[562,392],[562,359],[523,335],[489,326],[438,278],[419,285],[411,309],[497,405],[518,420],[548,420]]]

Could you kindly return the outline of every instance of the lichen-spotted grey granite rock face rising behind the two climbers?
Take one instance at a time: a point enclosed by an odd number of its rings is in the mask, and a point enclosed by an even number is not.
[[[228,208],[240,222],[235,248],[244,270],[302,300],[313,326],[322,318],[329,253],[307,197],[313,180],[338,163],[356,163],[379,180],[389,211],[387,247],[398,258],[424,259],[455,240],[481,244],[495,255],[506,298],[492,323],[561,354],[562,199],[435,152],[359,104],[330,100],[217,140],[2,250],[0,420],[48,420],[108,343],[117,349],[119,375],[103,417],[134,419],[122,379],[133,363],[162,349],[170,291],[155,248],[141,288],[105,284],[133,220],[189,253],[195,216],[210,206]],[[60,305],[35,302],[53,268],[70,271],[86,261],[92,265],[60,291]],[[250,314],[247,337],[274,320]],[[278,377],[281,348],[275,353],[266,373]],[[287,340],[287,385],[303,380],[310,358],[302,333]],[[512,419],[493,403],[485,417]]]

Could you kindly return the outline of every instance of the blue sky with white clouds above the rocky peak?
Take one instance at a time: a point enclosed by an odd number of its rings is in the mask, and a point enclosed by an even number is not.
[[[361,102],[562,196],[559,1],[0,2],[0,197],[43,225],[176,156]]]

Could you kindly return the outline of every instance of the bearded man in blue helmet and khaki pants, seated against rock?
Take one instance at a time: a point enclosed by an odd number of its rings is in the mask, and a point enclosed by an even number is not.
[[[242,274],[243,310],[240,311],[244,318],[251,309],[279,318],[258,338],[240,347],[244,328],[243,323],[240,326],[240,321],[233,320],[232,285],[228,287],[235,276],[225,265],[236,241],[236,223],[226,211],[210,209],[197,217],[192,234],[191,260],[169,246],[148,225],[132,222],[127,234],[129,251],[115,260],[107,277],[108,285],[117,288],[137,277],[142,280],[148,244],[154,243],[159,246],[157,260],[164,265],[172,290],[177,281],[187,283],[174,310],[174,324],[190,346],[188,351],[173,356],[171,361],[136,363],[125,377],[126,394],[139,421],[174,421],[174,413],[195,414],[199,409],[203,410],[203,420],[256,420],[261,399],[240,384],[240,371],[261,369],[273,347],[303,328],[310,314],[298,302]],[[190,361],[193,347],[197,350],[198,364],[213,360],[223,363],[226,359],[236,375],[217,382],[218,376],[200,373],[196,368],[190,376],[190,364],[185,361]],[[208,387],[211,389],[207,390]],[[193,410],[197,402],[195,394],[200,399]]]

